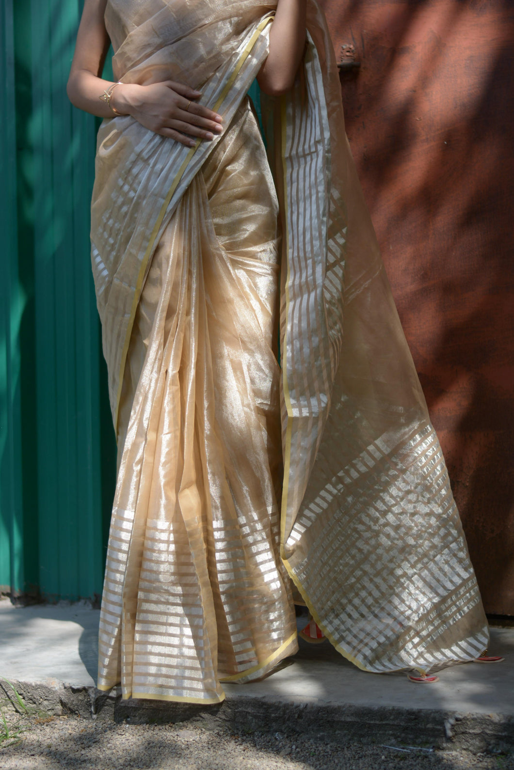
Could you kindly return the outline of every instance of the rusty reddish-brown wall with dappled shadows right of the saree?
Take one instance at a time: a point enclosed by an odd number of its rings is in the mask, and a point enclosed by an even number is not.
[[[321,2],[486,610],[512,615],[514,2]]]

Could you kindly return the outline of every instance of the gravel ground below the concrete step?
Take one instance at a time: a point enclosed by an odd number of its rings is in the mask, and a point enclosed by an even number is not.
[[[22,719],[2,770],[514,770],[514,755],[330,743],[299,735],[235,735],[186,725],[126,725],[76,716]],[[22,724],[18,723],[18,726]]]

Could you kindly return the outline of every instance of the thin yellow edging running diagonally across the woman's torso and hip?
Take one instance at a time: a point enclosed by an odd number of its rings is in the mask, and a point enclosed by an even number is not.
[[[243,53],[240,55],[240,59],[235,65],[233,72],[230,75],[230,78],[225,83],[223,90],[217,99],[217,102],[213,106],[214,112],[217,112],[217,110],[220,109],[220,106],[223,104],[223,101],[227,97],[228,92],[232,88],[232,85],[235,82],[237,75],[239,75],[240,70],[244,65],[244,62],[246,62],[248,56],[254,49],[254,45],[256,44],[257,39],[259,38],[261,33],[264,31],[264,29],[267,27],[267,25],[273,21],[273,16],[274,16],[273,14],[265,16],[257,25],[257,28],[254,31],[254,34],[251,36]],[[141,290],[143,287],[143,279],[146,273],[146,266],[148,264],[149,256],[152,253],[152,249],[157,237],[157,233],[159,233],[160,226],[163,223],[164,215],[166,214],[166,210],[168,206],[170,206],[170,201],[173,198],[173,193],[176,191],[176,188],[179,186],[180,179],[182,179],[187,166],[189,166],[190,161],[193,158],[195,152],[197,152],[197,149],[200,147],[201,142],[202,142],[202,139],[197,139],[197,144],[190,149],[190,151],[187,153],[186,157],[184,158],[183,163],[180,166],[180,169],[178,170],[178,172],[176,172],[176,176],[173,179],[172,185],[166,195],[166,198],[164,199],[163,205],[161,206],[159,216],[157,216],[156,223],[153,226],[152,233],[150,234],[150,237],[149,237],[148,246],[146,246],[146,251],[141,261],[141,266],[139,267],[139,274],[137,276],[137,281],[136,281],[136,290],[134,292],[133,303],[130,308],[129,323],[127,326],[125,341],[123,343],[121,363],[119,365],[118,393],[116,393],[116,413],[114,416],[114,430],[116,433],[116,437],[118,435],[119,404],[121,401],[121,393],[123,388],[123,374],[125,373],[126,357],[129,352],[130,337],[132,336],[133,323],[136,317],[136,310],[139,303],[139,296],[141,294]]]

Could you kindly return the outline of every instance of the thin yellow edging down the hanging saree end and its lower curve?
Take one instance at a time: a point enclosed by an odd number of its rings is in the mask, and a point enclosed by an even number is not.
[[[365,665],[361,663],[361,661],[358,661],[357,658],[354,658],[354,655],[351,654],[348,650],[346,650],[344,647],[341,646],[341,644],[336,641],[333,634],[331,634],[330,631],[328,631],[328,628],[324,625],[323,621],[321,621],[321,618],[317,614],[317,611],[314,608],[314,604],[311,601],[311,598],[307,594],[307,591],[305,591],[304,586],[301,584],[301,581],[298,580],[298,577],[296,574],[294,574],[293,567],[291,567],[291,564],[287,560],[287,557],[285,555],[285,529],[286,529],[286,517],[287,517],[287,496],[289,492],[289,474],[291,469],[291,438],[292,438],[292,422],[291,418],[292,415],[292,407],[291,407],[291,393],[289,390],[289,383],[287,382],[287,318],[289,317],[289,306],[290,306],[290,295],[289,295],[289,278],[291,276],[291,264],[289,260],[289,226],[288,226],[288,218],[287,218],[287,212],[288,212],[288,199],[287,199],[287,169],[286,169],[286,156],[285,156],[285,148],[286,148],[286,142],[287,142],[287,102],[286,97],[281,97],[281,159],[282,159],[282,170],[284,174],[284,240],[285,240],[285,259],[286,259],[286,281],[285,281],[285,317],[286,317],[286,323],[285,323],[285,329],[284,329],[284,349],[282,351],[282,379],[283,379],[283,386],[284,386],[284,401],[286,403],[287,408],[287,427],[286,427],[286,436],[284,441],[284,485],[282,488],[282,505],[281,505],[281,558],[284,562],[284,566],[287,569],[287,574],[289,574],[289,577],[291,577],[291,580],[293,581],[294,585],[297,587],[298,591],[301,593],[301,597],[304,599],[305,606],[307,607],[308,611],[311,613],[312,617],[314,618],[314,621],[317,623],[319,628],[321,628],[321,631],[323,631],[326,638],[328,638],[328,641],[331,642],[332,646],[343,656],[343,658],[346,658],[348,661],[353,663],[355,666],[361,669],[361,671],[368,671],[368,673],[371,674],[378,674],[379,671],[373,671],[371,668],[366,668]],[[406,668],[409,668],[408,666],[405,666],[404,668],[395,668],[391,669],[391,671],[404,671]],[[415,671],[419,671],[421,675],[425,675],[425,671],[422,668],[418,667],[412,667]],[[389,671],[387,672],[389,673]]]

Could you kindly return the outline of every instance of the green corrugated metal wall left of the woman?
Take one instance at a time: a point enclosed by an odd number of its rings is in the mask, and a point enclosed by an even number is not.
[[[0,585],[92,597],[115,448],[89,257],[96,122],[66,80],[82,3],[2,0]],[[14,120],[15,115],[15,120]]]

